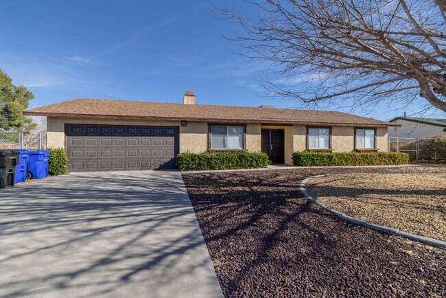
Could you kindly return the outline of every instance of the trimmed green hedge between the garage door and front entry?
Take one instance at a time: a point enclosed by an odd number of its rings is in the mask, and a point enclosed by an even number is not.
[[[248,151],[185,152],[176,157],[180,171],[258,169],[269,163],[266,153]]]

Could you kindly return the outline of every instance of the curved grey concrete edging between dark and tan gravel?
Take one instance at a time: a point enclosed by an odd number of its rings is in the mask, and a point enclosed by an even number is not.
[[[408,232],[405,232],[405,231],[400,231],[398,229],[393,229],[393,228],[390,228],[390,227],[384,227],[382,225],[377,225],[377,224],[374,224],[373,222],[368,222],[366,220],[360,220],[358,218],[353,218],[351,216],[343,214],[340,211],[336,211],[336,210],[330,209],[329,207],[327,207],[324,204],[320,203],[319,200],[317,200],[316,198],[313,198],[312,196],[310,196],[309,192],[307,191],[307,189],[305,187],[305,183],[307,183],[308,181],[310,181],[310,180],[312,180],[314,178],[327,177],[327,176],[333,176],[333,174],[310,176],[310,177],[304,179],[301,182],[301,185],[299,185],[299,190],[301,190],[303,195],[305,197],[307,197],[309,200],[311,200],[313,203],[315,203],[316,205],[322,207],[322,209],[325,209],[325,210],[329,211],[331,214],[334,214],[334,215],[338,216],[342,220],[346,220],[348,222],[352,222],[352,223],[354,223],[356,225],[362,225],[363,227],[367,227],[368,229],[373,229],[375,231],[380,231],[380,232],[383,232],[383,233],[386,233],[386,234],[390,234],[390,235],[396,235],[396,236],[401,236],[401,237],[404,237],[404,238],[409,238],[410,240],[415,240],[415,241],[423,242],[425,244],[430,244],[430,245],[432,245],[434,247],[441,247],[443,249],[446,249],[446,242],[445,241],[441,241],[441,240],[437,240],[437,239],[429,238],[429,237],[425,237],[425,236],[419,236],[419,235],[415,235],[415,234],[408,233]]]

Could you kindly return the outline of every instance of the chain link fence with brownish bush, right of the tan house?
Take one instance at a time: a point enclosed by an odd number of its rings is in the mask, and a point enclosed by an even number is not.
[[[388,150],[407,153],[414,163],[446,163],[444,137],[389,137]]]

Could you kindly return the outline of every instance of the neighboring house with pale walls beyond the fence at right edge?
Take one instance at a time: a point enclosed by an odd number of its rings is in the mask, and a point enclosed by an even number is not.
[[[389,121],[394,126],[388,128],[389,137],[422,138],[434,135],[446,136],[446,119],[396,117]]]

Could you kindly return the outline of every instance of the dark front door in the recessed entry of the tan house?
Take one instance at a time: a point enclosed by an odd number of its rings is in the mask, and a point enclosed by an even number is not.
[[[272,163],[284,163],[285,153],[283,129],[261,130],[261,152],[268,154]]]

